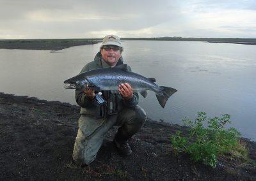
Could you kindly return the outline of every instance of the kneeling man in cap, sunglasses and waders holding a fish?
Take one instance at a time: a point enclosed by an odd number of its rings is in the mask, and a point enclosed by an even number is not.
[[[122,51],[123,45],[118,36],[105,36],[94,61],[86,64],[80,73],[123,64]],[[128,69],[131,71],[129,66]],[[147,119],[145,111],[138,106],[138,93],[132,91],[129,83],[119,85],[118,91],[102,91],[102,97],[106,100],[104,105],[97,104],[95,93],[90,89],[76,90],[81,117],[73,159],[81,166],[95,160],[104,137],[113,126],[120,126],[113,140],[116,148],[124,156],[131,155],[127,140],[140,130]]]

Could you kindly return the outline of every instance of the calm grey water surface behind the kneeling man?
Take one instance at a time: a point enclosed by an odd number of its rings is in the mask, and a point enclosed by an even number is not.
[[[93,60],[100,44],[48,50],[0,49],[0,92],[76,104],[63,80]],[[161,108],[154,92],[140,105],[148,117],[182,124],[198,111],[231,115],[232,126],[256,140],[256,46],[196,41],[124,41],[132,71],[178,90]]]

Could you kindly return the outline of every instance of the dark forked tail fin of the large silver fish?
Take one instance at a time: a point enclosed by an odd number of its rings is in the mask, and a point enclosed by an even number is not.
[[[170,96],[172,96],[172,94],[177,92],[177,90],[173,89],[172,87],[164,87],[164,86],[159,86],[159,87],[161,89],[161,93],[156,94],[156,98],[159,104],[164,108],[167,100],[170,98]]]

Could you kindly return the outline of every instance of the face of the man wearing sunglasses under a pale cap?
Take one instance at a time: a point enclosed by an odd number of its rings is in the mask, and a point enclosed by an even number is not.
[[[120,47],[115,45],[104,45],[100,53],[104,61],[111,67],[116,65],[122,54]]]

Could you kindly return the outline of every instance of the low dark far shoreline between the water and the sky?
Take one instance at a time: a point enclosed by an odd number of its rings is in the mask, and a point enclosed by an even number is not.
[[[256,38],[182,38],[182,37],[161,37],[161,38],[122,38],[126,40],[143,41],[204,41],[208,43],[234,43],[241,45],[256,45]],[[65,48],[93,45],[101,42],[101,38],[84,39],[27,39],[27,40],[0,40],[0,49],[19,50],[63,50]]]

